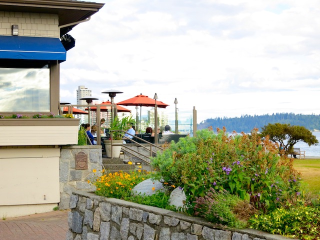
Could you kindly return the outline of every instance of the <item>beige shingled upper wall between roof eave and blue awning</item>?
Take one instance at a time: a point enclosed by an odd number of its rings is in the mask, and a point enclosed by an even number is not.
[[[57,14],[0,11],[0,35],[11,35],[14,24],[19,36],[59,37]]]

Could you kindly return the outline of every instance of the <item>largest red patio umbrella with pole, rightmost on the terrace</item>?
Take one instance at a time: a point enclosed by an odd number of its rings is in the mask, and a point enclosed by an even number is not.
[[[141,107],[155,106],[155,102],[157,107],[165,108],[168,106],[168,104],[165,104],[162,101],[154,100],[146,95],[142,95],[142,93],[140,93],[140,95],[136,95],[135,97],[126,99],[124,101],[120,101],[116,104],[125,105],[125,106],[140,106],[140,127],[141,127]],[[141,132],[141,129],[140,129],[140,132]]]

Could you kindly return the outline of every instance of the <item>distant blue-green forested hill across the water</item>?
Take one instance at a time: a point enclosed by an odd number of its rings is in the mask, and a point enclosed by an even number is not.
[[[304,126],[305,128],[313,131],[320,129],[320,115],[303,115],[294,113],[273,113],[272,115],[242,115],[241,117],[216,117],[209,118],[197,124],[197,129],[207,128],[212,126],[215,131],[217,127],[224,126],[227,132],[250,132],[254,127],[261,131],[261,127],[268,123],[290,123],[291,125]]]

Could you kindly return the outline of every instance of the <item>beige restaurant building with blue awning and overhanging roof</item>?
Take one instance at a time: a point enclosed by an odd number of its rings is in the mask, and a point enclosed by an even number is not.
[[[50,211],[59,202],[60,148],[77,144],[79,120],[3,117],[59,115],[59,64],[75,45],[68,32],[102,6],[0,1],[1,217]]]

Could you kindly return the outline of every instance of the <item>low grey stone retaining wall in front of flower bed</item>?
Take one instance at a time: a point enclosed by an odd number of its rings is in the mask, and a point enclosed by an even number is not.
[[[284,240],[253,229],[226,230],[203,218],[74,191],[66,240]]]

